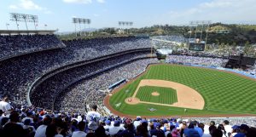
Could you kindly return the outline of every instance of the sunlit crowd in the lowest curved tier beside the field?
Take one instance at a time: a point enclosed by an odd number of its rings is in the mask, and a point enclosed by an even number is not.
[[[104,71],[96,77],[84,79],[73,86],[68,87],[65,92],[58,95],[55,102],[55,110],[84,112],[84,106],[91,103],[96,104],[101,109],[102,115],[108,115],[104,110],[103,98],[108,94],[108,87],[118,82],[120,79],[131,80],[141,74],[148,64],[158,63],[157,59],[135,60],[121,66],[117,66],[109,71]],[[89,110],[89,108],[86,108]],[[80,110],[80,111],[79,111]]]

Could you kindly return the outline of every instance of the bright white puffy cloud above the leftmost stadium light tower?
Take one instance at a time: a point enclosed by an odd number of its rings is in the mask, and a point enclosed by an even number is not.
[[[44,14],[51,14],[47,8],[41,7],[32,2],[32,0],[20,0],[20,3],[9,5],[9,9],[25,9],[25,10],[39,10],[44,11]]]

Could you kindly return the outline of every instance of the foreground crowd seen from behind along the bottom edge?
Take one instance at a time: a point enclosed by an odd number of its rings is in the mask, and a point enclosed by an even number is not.
[[[220,123],[195,118],[144,118],[108,116],[90,106],[86,115],[48,111],[36,107],[9,107],[0,102],[0,134],[3,137],[255,137],[256,128],[247,124]],[[2,106],[3,104],[6,106]],[[248,119],[251,120],[252,119]],[[234,120],[233,120],[234,121]],[[254,120],[255,121],[255,120]]]

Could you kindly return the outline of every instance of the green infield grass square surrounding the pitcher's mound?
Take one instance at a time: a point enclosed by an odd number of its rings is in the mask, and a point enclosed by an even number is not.
[[[154,96],[153,92],[158,92],[160,95]],[[173,88],[143,86],[138,89],[136,97],[142,101],[154,102],[160,104],[173,104],[177,102],[176,90]]]

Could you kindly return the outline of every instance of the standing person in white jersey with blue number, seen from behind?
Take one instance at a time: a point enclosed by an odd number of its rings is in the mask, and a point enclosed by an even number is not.
[[[101,114],[97,111],[96,105],[92,105],[90,106],[90,108],[91,108],[91,111],[88,111],[86,115],[86,120],[88,121],[88,128],[90,130],[95,131],[96,128],[99,127]]]

